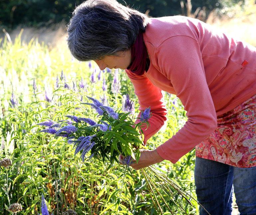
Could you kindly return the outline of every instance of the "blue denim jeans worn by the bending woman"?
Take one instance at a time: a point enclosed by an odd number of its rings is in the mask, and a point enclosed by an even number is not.
[[[256,215],[256,167],[237,168],[196,157],[197,201],[210,215],[231,215],[232,193],[240,215]],[[200,215],[208,213],[200,206]]]

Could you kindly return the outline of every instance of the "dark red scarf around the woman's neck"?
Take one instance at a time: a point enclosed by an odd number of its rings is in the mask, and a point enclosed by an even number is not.
[[[142,32],[137,36],[136,42],[131,47],[132,63],[127,70],[136,75],[143,75],[146,68],[147,48],[143,41]]]

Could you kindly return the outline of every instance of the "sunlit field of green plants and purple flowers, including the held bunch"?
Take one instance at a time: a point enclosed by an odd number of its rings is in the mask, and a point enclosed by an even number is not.
[[[141,146],[132,127],[138,102],[125,72],[100,71],[20,37],[0,47],[0,215],[197,214],[194,151],[175,165],[141,171],[129,159],[117,162],[118,151],[126,156]],[[168,122],[149,149],[186,121],[180,101],[164,97]]]

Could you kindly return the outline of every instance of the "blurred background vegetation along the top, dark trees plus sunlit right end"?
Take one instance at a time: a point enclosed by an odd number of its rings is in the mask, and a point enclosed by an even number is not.
[[[249,8],[255,0],[118,0],[121,4],[148,14],[151,17],[188,15],[203,21],[210,12],[218,16],[235,17],[239,13],[255,13]],[[21,25],[45,27],[60,22],[68,23],[76,5],[83,0],[1,0],[0,28],[14,29]]]

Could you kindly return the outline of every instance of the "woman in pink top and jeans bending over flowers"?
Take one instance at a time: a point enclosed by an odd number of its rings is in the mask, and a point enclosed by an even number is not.
[[[176,163],[196,147],[197,200],[211,215],[230,215],[234,186],[240,214],[256,214],[255,47],[196,19],[148,18],[115,0],[82,3],[67,32],[76,59],[126,69],[139,110],[153,113],[145,144],[166,121],[162,90],[187,111],[184,127],[156,150],[141,150],[134,169]]]

